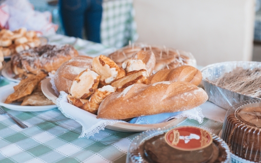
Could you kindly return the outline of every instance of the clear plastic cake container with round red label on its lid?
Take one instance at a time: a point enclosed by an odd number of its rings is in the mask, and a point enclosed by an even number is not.
[[[194,129],[200,132],[194,132]],[[142,132],[129,145],[126,158],[126,163],[174,162],[230,163],[231,158],[228,145],[221,138],[198,127],[159,128]]]

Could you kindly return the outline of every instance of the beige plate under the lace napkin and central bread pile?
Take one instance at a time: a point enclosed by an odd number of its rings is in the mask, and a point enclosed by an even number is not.
[[[56,104],[56,99],[58,98],[58,95],[52,89],[52,84],[50,83],[50,80],[51,80],[50,78],[46,78],[41,81],[41,91],[49,100],[51,100],[53,103]],[[122,131],[122,132],[140,132],[152,128],[175,126],[181,123],[185,119],[186,117],[179,118],[179,119],[174,118],[168,122],[152,124],[152,125],[140,125],[140,124],[129,124],[129,123],[119,122],[119,123],[115,123],[114,125],[108,125],[105,128],[112,129],[115,131]]]

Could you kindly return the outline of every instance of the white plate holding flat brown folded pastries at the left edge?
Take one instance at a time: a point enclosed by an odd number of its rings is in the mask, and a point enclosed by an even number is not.
[[[6,98],[14,92],[14,86],[18,83],[9,84],[3,87],[0,87],[0,106],[3,106],[8,109],[18,110],[18,111],[44,111],[49,109],[57,108],[57,105],[46,105],[46,106],[20,106],[21,103],[15,104],[5,104],[4,101]]]

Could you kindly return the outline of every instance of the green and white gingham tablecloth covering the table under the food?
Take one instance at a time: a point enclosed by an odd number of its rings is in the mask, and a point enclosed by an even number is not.
[[[48,38],[52,44],[74,44],[76,49],[92,56],[110,50],[101,44],[76,41],[73,37]],[[9,83],[0,78],[0,87]],[[58,109],[38,112],[5,110],[28,128],[21,129],[6,114],[0,115],[0,163],[124,163],[128,145],[140,134],[105,129],[89,139],[79,139],[80,124],[66,118]],[[197,126],[218,134],[221,121],[204,118],[199,124],[186,119],[178,126]]]

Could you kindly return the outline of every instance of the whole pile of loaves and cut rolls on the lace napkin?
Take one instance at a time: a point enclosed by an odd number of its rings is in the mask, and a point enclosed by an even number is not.
[[[122,67],[104,55],[86,57],[85,64],[82,56],[75,57],[58,69],[55,86],[68,93],[69,103],[103,119],[183,111],[207,100],[206,92],[197,87],[202,75],[196,68],[182,66],[152,74],[154,53],[139,51],[132,56]]]

